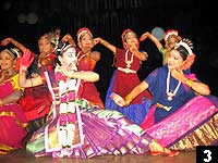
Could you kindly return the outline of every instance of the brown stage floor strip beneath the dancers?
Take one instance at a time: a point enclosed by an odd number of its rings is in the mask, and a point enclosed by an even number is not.
[[[150,156],[144,155],[102,155],[93,159],[52,159],[52,158],[34,158],[28,155],[25,150],[17,150],[8,155],[0,155],[1,163],[195,163],[196,154],[192,152],[180,152],[179,155],[169,156]]]

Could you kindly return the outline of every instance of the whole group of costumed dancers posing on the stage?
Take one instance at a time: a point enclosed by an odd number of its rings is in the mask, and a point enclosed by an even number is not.
[[[218,140],[218,99],[191,66],[192,40],[178,30],[164,35],[162,45],[146,32],[121,35],[122,48],[87,27],[76,41],[60,29],[38,39],[36,54],[14,38],[1,41],[0,152],[25,148],[34,156],[93,158],[104,154],[174,156]],[[162,54],[162,66],[144,80],[137,71],[149,54],[140,42],[152,40]],[[9,45],[13,48],[7,48]],[[102,45],[114,55],[107,96],[100,98],[95,66]]]

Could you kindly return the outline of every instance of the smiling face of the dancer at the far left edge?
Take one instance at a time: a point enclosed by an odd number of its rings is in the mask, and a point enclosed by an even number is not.
[[[9,52],[9,50],[3,50],[0,53],[0,67],[1,70],[13,68],[15,63],[15,57]]]

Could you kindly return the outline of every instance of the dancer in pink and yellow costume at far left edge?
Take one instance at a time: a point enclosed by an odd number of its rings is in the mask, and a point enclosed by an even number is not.
[[[26,118],[16,103],[23,90],[19,87],[15,63],[14,49],[0,52],[0,154],[22,148],[22,139],[26,136]]]

